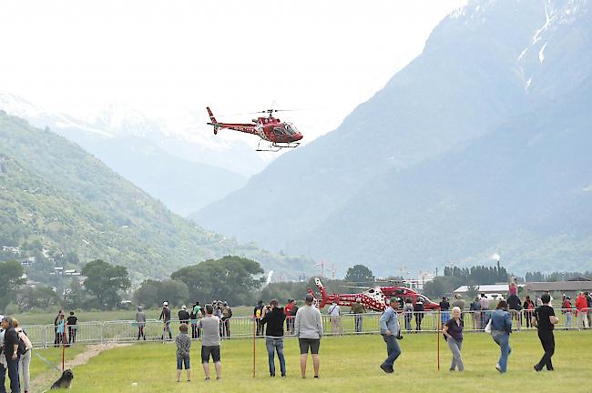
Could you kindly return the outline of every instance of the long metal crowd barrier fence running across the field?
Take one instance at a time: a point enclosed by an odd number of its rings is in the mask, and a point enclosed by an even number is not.
[[[580,313],[577,317],[575,309],[556,308],[556,317],[559,318],[557,329],[581,329],[592,327],[592,320],[587,312]],[[469,311],[464,310],[464,330],[467,332],[480,331],[485,328],[493,310]],[[512,311],[512,323],[514,330],[529,330],[534,328],[527,319],[532,316],[531,310]],[[339,317],[322,315],[323,334],[332,335],[355,335],[355,334],[377,334],[380,332],[379,319],[382,313],[367,312],[364,314],[342,314]],[[584,318],[586,317],[586,319]],[[434,333],[446,320],[450,313],[444,311],[424,311],[398,313],[401,331],[405,333]],[[293,335],[294,317],[288,317],[284,325],[285,335]],[[586,320],[586,322],[585,322]],[[195,321],[194,321],[195,322]],[[179,334],[179,319],[171,319],[168,328],[172,338]],[[168,340],[168,332],[165,333],[166,325],[156,319],[147,320],[143,324],[132,320],[117,320],[107,322],[80,322],[76,327],[76,342],[85,344],[100,343],[129,343],[138,341],[138,325],[142,325],[147,341]],[[26,334],[35,348],[47,348],[59,346],[62,342],[54,325],[28,325],[24,326]],[[189,335],[192,336],[192,327],[189,323]],[[198,333],[196,331],[196,333]],[[200,332],[199,332],[200,333]],[[252,338],[253,335],[263,337],[264,328],[260,326],[259,320],[255,317],[231,317],[220,323],[220,336],[228,338]],[[72,336],[66,327],[66,344],[71,344]],[[197,338],[194,334],[193,338]],[[200,334],[199,334],[200,336]],[[144,339],[143,337],[140,339]]]

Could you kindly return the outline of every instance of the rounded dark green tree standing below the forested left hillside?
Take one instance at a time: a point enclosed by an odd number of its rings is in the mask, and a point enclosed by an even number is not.
[[[128,267],[113,266],[101,259],[88,262],[81,273],[87,277],[84,286],[96,297],[95,303],[99,308],[117,307],[121,301],[117,291],[131,287]]]

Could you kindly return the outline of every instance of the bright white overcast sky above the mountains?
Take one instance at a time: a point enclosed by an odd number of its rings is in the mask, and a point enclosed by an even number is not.
[[[466,0],[0,0],[0,90],[74,116],[277,108],[331,131]],[[227,117],[249,121],[251,116]],[[246,136],[248,137],[248,136]]]

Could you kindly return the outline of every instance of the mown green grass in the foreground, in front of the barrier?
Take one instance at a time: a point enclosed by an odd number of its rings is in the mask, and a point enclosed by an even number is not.
[[[395,363],[394,375],[378,368],[385,358],[383,339],[378,335],[323,338],[321,378],[300,378],[297,341],[285,340],[288,378],[270,379],[264,341],[256,341],[257,378],[251,378],[252,340],[237,339],[222,343],[222,380],[203,381],[199,364],[199,342],[191,349],[193,381],[191,390],[206,392],[356,392],[397,391],[471,392],[512,391],[520,386],[528,391],[583,391],[589,386],[592,364],[592,332],[556,332],[556,371],[534,373],[532,365],[542,355],[535,332],[512,335],[512,355],[508,373],[499,375],[494,366],[499,348],[485,333],[466,334],[464,373],[448,371],[450,352],[441,341],[441,371],[436,368],[436,336],[405,335],[403,355]],[[310,362],[311,363],[311,362]],[[87,365],[75,368],[72,392],[162,392],[186,391],[188,383],[176,383],[175,346],[138,344],[103,352]],[[309,377],[311,377],[309,364]],[[132,386],[132,383],[138,383]],[[549,385],[552,383],[553,385]],[[587,390],[585,388],[584,390]]]

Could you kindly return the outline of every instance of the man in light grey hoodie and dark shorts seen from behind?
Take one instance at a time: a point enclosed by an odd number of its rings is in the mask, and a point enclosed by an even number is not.
[[[319,347],[322,338],[321,311],[312,306],[314,297],[311,294],[306,295],[304,300],[306,305],[298,309],[294,321],[294,336],[298,338],[301,348],[301,375],[302,378],[306,378],[306,361],[308,360],[310,348],[314,378],[319,378]]]

